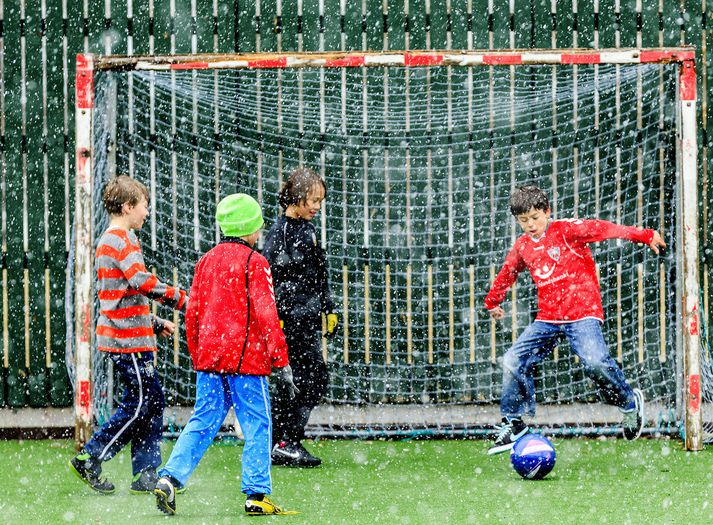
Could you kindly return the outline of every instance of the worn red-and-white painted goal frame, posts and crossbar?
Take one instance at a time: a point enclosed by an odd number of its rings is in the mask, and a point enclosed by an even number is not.
[[[94,424],[92,348],[94,297],[94,217],[97,196],[93,181],[95,151],[92,143],[94,121],[94,75],[97,71],[183,71],[292,68],[431,68],[431,67],[516,67],[546,65],[577,67],[597,64],[676,64],[676,154],[680,182],[676,195],[679,215],[677,268],[680,272],[682,346],[682,385],[679,394],[685,407],[685,446],[703,448],[701,414],[701,347],[699,341],[699,228],[698,164],[695,51],[692,48],[657,49],[529,49],[491,51],[415,51],[415,52],[335,52],[197,54],[171,56],[99,56],[79,54],[76,61],[76,180],[74,246],[74,387],[75,439],[86,442]],[[175,190],[174,190],[175,191]],[[197,191],[197,190],[196,190]],[[366,204],[365,204],[366,206]],[[101,212],[100,212],[101,213]],[[366,234],[365,234],[366,235]],[[367,243],[368,244],[368,243]],[[368,259],[367,259],[368,260]],[[364,278],[369,277],[364,266]],[[430,272],[430,269],[429,269]],[[346,278],[346,277],[345,277]],[[388,278],[388,266],[387,266]],[[471,277],[472,278],[472,277]],[[368,281],[367,281],[368,282]],[[430,273],[429,273],[430,283]],[[339,285],[339,282],[333,283]],[[346,290],[346,285],[345,285]],[[365,289],[364,293],[368,290]],[[452,292],[451,292],[452,293]],[[368,298],[366,303],[368,304]],[[430,304],[430,303],[429,303]],[[471,304],[471,309],[473,305]],[[453,317],[453,312],[451,312]],[[429,306],[430,319],[430,306]],[[347,321],[347,320],[345,320]],[[367,318],[368,321],[368,318]],[[346,324],[346,322],[345,322]],[[451,321],[451,326],[452,326]],[[410,325],[409,325],[410,327]],[[388,321],[387,321],[387,329]],[[368,323],[366,330],[369,330]],[[429,326],[430,330],[430,326]],[[408,334],[410,337],[410,334]],[[452,339],[452,334],[451,334]],[[368,339],[366,341],[368,361]],[[452,351],[452,350],[451,350]],[[430,354],[429,354],[430,358]]]

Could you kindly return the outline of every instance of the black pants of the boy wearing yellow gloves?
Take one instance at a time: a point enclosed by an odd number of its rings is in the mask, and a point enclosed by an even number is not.
[[[305,323],[306,324],[306,323]],[[312,412],[327,391],[329,375],[322,358],[319,330],[285,322],[287,354],[299,394],[294,399],[277,388],[272,397],[272,442],[298,443]]]

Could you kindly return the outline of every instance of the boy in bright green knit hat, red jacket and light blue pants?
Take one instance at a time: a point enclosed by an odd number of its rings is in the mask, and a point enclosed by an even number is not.
[[[270,479],[270,396],[273,368],[287,395],[296,388],[275,307],[272,274],[254,245],[260,205],[245,194],[218,203],[224,239],[196,265],[186,308],[188,350],[196,370],[196,406],[176,441],[154,493],[158,508],[176,513],[176,491],[188,481],[232,406],[245,435],[242,492],[249,515],[296,514],[267,497]]]

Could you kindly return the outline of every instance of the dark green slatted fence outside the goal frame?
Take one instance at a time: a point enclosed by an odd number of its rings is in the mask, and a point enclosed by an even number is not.
[[[0,405],[66,406],[65,261],[71,243],[74,56],[316,50],[696,47],[699,60],[701,264],[712,198],[707,185],[707,2],[369,0],[0,1],[0,168],[3,366]],[[133,5],[128,12],[127,5]],[[139,5],[140,4],[140,5]],[[323,7],[320,5],[323,4]],[[191,6],[195,5],[192,13]],[[427,10],[427,6],[429,9]],[[595,6],[598,6],[595,8]],[[706,281],[707,282],[707,281]],[[704,289],[705,297],[708,289]]]

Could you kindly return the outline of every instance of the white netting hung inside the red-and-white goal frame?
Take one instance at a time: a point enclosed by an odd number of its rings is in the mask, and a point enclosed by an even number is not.
[[[652,421],[669,421],[680,375],[675,77],[659,65],[101,72],[95,237],[102,185],[132,174],[152,194],[139,233],[147,264],[188,287],[217,239],[220,198],[254,195],[269,227],[281,181],[310,166],[327,182],[315,221],[346,320],[325,341],[326,401],[491,406],[499,359],[536,297],[521,276],[497,325],[482,301],[519,235],[510,192],[536,183],[555,217],[663,232],[662,257],[626,241],[593,252],[611,353],[655,407]],[[169,403],[189,404],[183,341],[159,356]],[[96,384],[106,413],[107,381]],[[601,423],[577,408],[599,398],[566,344],[537,385],[543,406],[575,407],[567,422]]]

